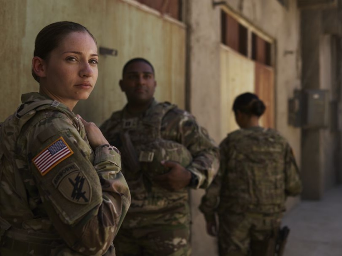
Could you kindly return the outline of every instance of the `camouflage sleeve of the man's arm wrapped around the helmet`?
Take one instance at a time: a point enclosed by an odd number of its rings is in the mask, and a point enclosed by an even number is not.
[[[189,113],[183,114],[179,125],[182,144],[193,156],[187,170],[197,176],[196,188],[207,188],[219,168],[219,148],[209,137],[207,130],[200,127]]]

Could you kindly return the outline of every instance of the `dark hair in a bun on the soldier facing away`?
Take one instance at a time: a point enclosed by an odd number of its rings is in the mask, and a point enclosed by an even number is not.
[[[237,96],[234,100],[233,111],[236,114],[237,110],[242,113],[260,117],[266,110],[265,104],[256,94],[243,93]]]

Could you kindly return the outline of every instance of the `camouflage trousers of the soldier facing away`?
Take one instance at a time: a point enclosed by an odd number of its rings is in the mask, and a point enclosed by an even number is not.
[[[220,256],[271,256],[282,214],[226,213],[219,215]]]

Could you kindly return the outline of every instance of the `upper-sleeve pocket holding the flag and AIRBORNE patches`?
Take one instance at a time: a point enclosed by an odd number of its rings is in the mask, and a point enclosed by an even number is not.
[[[66,129],[49,137],[31,160],[41,197],[50,201],[44,205],[47,212],[57,212],[66,224],[73,224],[102,202],[92,151],[76,133]]]

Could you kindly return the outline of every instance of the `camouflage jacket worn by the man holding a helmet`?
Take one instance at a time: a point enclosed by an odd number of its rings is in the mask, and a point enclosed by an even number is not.
[[[132,194],[132,204],[122,226],[134,228],[151,224],[188,223],[187,188],[171,192],[154,183],[151,176],[167,172],[163,170],[161,160],[173,160],[197,177],[198,184],[193,188],[206,188],[211,183],[218,169],[219,150],[195,118],[175,105],[154,100],[139,116],[130,116],[126,107],[114,112],[100,128],[108,142],[122,152],[122,172]],[[129,168],[125,164],[132,162],[132,157],[123,153],[129,151],[122,140],[125,134],[129,135],[136,157],[140,158],[136,168]],[[148,161],[144,159],[151,155],[143,154],[146,152],[142,151],[142,147],[146,150],[151,140],[159,144],[159,150],[154,150],[154,158],[158,160],[148,165],[143,161]],[[167,157],[172,148],[178,157]]]

